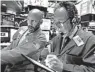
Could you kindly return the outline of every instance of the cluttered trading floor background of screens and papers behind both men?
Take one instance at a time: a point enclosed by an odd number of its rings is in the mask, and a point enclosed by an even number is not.
[[[95,35],[95,0],[1,0],[0,47],[1,50],[13,41],[13,35],[22,26],[27,26],[28,12],[37,8],[44,12],[41,29],[47,42],[59,34],[53,27],[54,7],[62,2],[73,2],[78,10],[78,28]],[[50,47],[47,46],[46,50]],[[43,54],[46,52],[43,51]],[[2,72],[5,66],[2,66]]]

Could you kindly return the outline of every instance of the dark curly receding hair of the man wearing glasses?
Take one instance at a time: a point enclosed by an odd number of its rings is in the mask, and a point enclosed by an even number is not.
[[[60,8],[60,7],[64,7],[66,9],[68,16],[69,16],[69,19],[70,19],[70,22],[72,22],[72,19],[74,17],[76,17],[78,14],[75,5],[71,2],[60,2],[58,4],[58,6],[55,8],[55,10]]]

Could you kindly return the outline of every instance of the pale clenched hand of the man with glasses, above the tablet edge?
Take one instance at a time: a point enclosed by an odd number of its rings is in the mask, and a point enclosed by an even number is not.
[[[45,63],[49,68],[57,72],[62,72],[63,70],[63,63],[61,60],[58,59],[56,55],[52,55],[52,54],[47,55]]]

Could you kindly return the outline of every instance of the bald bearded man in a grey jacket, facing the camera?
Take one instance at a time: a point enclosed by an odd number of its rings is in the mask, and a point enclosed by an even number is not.
[[[29,11],[28,26],[21,27],[13,36],[10,46],[1,51],[1,64],[9,64],[5,72],[32,72],[34,66],[21,54],[38,60],[39,52],[45,47],[46,37],[40,29],[43,12],[39,9]]]

